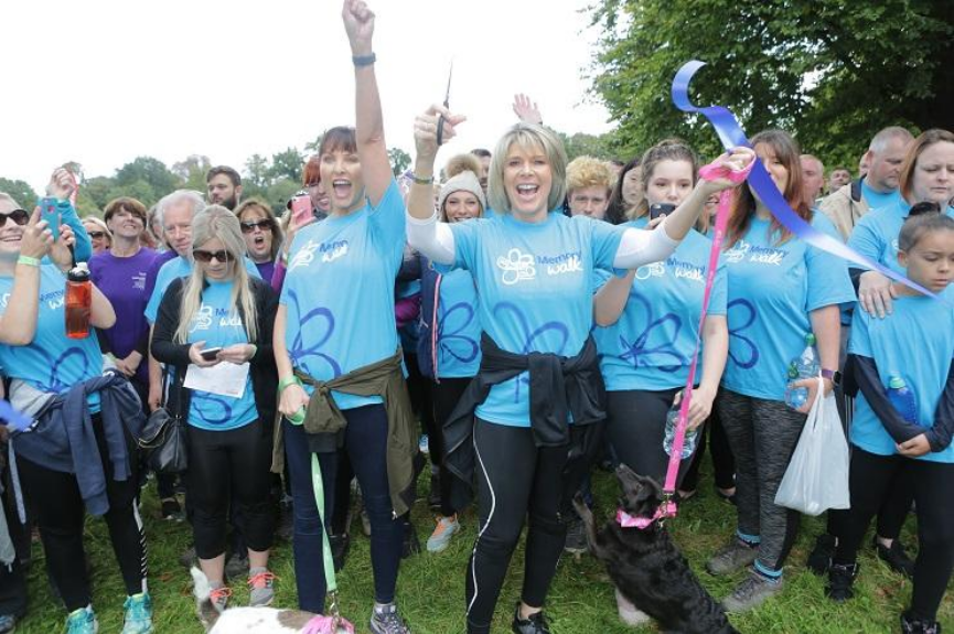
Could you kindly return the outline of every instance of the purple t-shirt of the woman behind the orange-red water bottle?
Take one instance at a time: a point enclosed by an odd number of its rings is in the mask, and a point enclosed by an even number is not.
[[[103,291],[116,311],[116,324],[104,331],[109,350],[116,358],[127,357],[149,332],[149,323],[143,315],[146,302],[149,300],[146,281],[147,273],[157,259],[159,258],[156,251],[141,248],[128,258],[117,258],[107,250],[89,260],[93,283]],[[144,358],[136,370],[136,379],[149,383],[149,364]]]

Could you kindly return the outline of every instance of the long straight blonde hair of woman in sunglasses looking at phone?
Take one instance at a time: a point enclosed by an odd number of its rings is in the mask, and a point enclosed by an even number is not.
[[[258,315],[255,310],[255,298],[248,281],[248,271],[245,270],[246,246],[242,237],[242,227],[238,217],[222,205],[211,205],[195,215],[192,221],[192,248],[199,248],[208,240],[218,238],[225,246],[228,256],[233,258],[232,266],[232,314],[240,309],[245,318],[245,333],[248,341],[254,342],[258,335]],[[185,281],[182,289],[182,303],[180,308],[179,327],[175,329],[175,342],[186,343],[192,320],[199,314],[202,307],[202,289],[205,286],[205,276],[199,265],[192,267],[192,275]]]

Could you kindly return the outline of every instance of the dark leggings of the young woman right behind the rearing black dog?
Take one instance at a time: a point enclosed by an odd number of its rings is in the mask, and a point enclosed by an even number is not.
[[[607,436],[619,461],[660,485],[666,479],[669,455],[663,449],[666,416],[679,388],[650,391],[628,389],[607,393]],[[679,463],[679,480],[692,460]]]

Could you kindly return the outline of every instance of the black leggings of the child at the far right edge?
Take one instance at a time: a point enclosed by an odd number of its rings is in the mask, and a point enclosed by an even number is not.
[[[851,508],[830,512],[838,535],[835,563],[854,563],[871,518],[898,482],[910,487],[918,504],[918,560],[911,616],[932,622],[954,569],[954,464],[875,455],[853,448]]]

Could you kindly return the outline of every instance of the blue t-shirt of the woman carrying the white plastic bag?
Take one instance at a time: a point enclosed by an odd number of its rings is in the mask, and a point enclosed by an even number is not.
[[[838,233],[824,214],[812,226]],[[808,313],[855,301],[845,260],[791,237],[779,244],[771,222],[753,217],[749,230],[722,254],[729,272],[729,359],[722,386],[738,394],[784,400],[786,368],[812,332]]]

